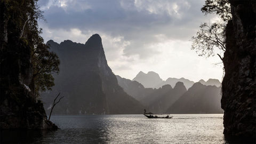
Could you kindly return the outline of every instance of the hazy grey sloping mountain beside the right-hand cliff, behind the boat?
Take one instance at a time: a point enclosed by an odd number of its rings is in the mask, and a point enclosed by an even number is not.
[[[206,86],[199,82],[191,86],[166,113],[172,114],[217,114],[222,113],[220,106],[220,87]]]

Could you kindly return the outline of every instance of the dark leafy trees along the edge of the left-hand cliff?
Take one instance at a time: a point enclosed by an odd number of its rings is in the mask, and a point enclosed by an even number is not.
[[[51,90],[54,86],[53,73],[59,73],[60,60],[58,55],[50,51],[50,47],[44,44],[40,36],[42,29],[38,28],[38,19],[44,19],[42,11],[37,6],[37,0],[30,1],[29,13],[23,15],[24,21],[20,38],[29,39],[31,51],[31,63],[33,65],[33,76],[29,85],[36,97],[40,92]]]

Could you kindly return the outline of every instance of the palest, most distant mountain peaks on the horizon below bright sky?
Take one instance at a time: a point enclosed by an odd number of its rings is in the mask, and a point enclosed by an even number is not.
[[[137,81],[147,88],[156,88],[156,89],[166,84],[170,84],[172,87],[174,87],[177,82],[182,82],[186,86],[186,89],[189,89],[189,87],[191,87],[195,83],[183,77],[182,78],[170,77],[170,78],[167,78],[166,81],[163,81],[163,79],[154,71],[149,71],[147,74],[140,71],[132,79],[132,81]],[[204,85],[215,85],[217,87],[221,86],[221,83],[218,79],[210,78],[206,82],[203,79],[201,79],[199,82]]]

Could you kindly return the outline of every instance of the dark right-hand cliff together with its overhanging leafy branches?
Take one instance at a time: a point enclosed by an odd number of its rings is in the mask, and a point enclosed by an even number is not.
[[[223,58],[219,55],[225,69],[221,99],[225,110],[223,133],[227,137],[252,138],[255,142],[256,2],[206,0],[201,10],[205,14],[218,14],[226,23],[219,28],[213,27],[218,23],[206,25],[206,29],[201,26],[192,45],[199,55],[214,54],[214,47],[225,51]]]

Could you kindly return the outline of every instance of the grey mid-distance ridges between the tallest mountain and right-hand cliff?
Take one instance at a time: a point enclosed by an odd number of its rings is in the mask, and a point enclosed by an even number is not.
[[[220,87],[215,85],[207,86],[197,82],[187,90],[183,82],[177,82],[173,88],[170,84],[166,84],[158,89],[153,89],[145,88],[137,81],[116,77],[118,84],[127,94],[139,100],[148,111],[153,113],[222,113]]]

